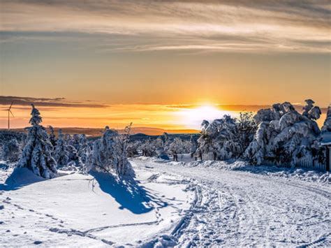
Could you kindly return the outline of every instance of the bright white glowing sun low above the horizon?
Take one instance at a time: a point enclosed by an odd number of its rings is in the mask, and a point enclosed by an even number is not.
[[[180,122],[186,127],[193,129],[200,129],[201,122],[204,119],[212,121],[214,119],[220,119],[223,115],[230,115],[230,112],[220,110],[217,105],[205,104],[200,105],[197,108],[187,108],[177,112],[180,117]]]

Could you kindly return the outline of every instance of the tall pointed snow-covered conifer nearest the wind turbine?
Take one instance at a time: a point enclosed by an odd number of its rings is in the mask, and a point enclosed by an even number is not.
[[[27,145],[25,145],[18,167],[28,168],[38,176],[52,178],[57,176],[57,161],[53,158],[53,146],[50,143],[48,134],[43,126],[41,126],[41,114],[31,104],[31,119]]]

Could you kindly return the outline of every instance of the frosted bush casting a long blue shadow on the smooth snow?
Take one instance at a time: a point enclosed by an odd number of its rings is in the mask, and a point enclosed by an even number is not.
[[[131,125],[127,126],[124,134],[105,127],[103,136],[94,141],[93,150],[87,158],[86,170],[96,170],[106,173],[134,175],[131,163],[128,161],[127,148]]]

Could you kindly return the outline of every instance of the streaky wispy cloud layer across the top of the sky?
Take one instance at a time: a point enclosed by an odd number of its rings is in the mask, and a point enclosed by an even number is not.
[[[330,52],[331,6],[323,0],[13,0],[1,5],[3,32],[97,34],[104,52]]]

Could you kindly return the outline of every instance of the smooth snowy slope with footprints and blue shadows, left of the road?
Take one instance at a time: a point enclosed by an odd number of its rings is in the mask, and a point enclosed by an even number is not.
[[[27,169],[16,174],[27,185],[0,184],[1,247],[138,246],[170,233],[191,203],[181,177],[152,182],[146,170],[137,170],[139,183],[102,173],[53,180],[38,180]]]

